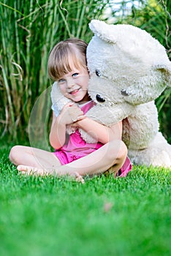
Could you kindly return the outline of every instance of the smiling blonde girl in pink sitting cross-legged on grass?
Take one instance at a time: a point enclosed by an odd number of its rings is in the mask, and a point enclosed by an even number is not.
[[[95,104],[88,96],[86,47],[86,42],[80,39],[66,39],[51,50],[48,60],[50,78],[57,81],[61,94],[72,103],[64,105],[58,115],[53,106],[50,145],[55,152],[27,146],[11,149],[9,159],[19,171],[75,176],[83,182],[82,176],[104,173],[112,166],[115,176],[126,176],[132,169],[126,157],[126,145],[121,140],[122,122],[105,127],[86,117],[86,112]],[[69,126],[75,128],[71,135],[66,132]],[[96,143],[86,143],[78,128],[91,134]]]

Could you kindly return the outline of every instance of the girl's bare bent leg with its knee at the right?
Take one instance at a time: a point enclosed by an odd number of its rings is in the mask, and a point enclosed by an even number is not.
[[[117,173],[126,160],[127,148],[121,140],[113,140],[86,157],[70,162],[67,165],[56,166],[50,172],[57,175],[72,175],[79,173],[80,176],[104,173],[113,166],[113,173]],[[43,168],[38,172],[42,173]],[[20,170],[27,171],[27,166],[20,166]],[[46,171],[46,170],[45,170]]]

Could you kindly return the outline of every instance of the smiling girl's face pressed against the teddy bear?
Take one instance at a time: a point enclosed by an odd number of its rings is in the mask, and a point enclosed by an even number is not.
[[[72,66],[72,72],[58,79],[61,93],[73,102],[82,103],[90,100],[88,96],[88,70],[76,69]]]

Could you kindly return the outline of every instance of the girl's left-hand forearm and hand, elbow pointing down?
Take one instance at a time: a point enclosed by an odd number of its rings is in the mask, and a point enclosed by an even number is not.
[[[53,148],[58,149],[64,146],[66,140],[66,125],[72,124],[79,118],[84,118],[83,111],[72,103],[66,104],[58,117],[53,113],[49,137],[50,145],[53,146]]]

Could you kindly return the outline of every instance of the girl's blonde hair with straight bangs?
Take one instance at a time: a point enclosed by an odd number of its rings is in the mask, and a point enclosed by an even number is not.
[[[63,75],[76,69],[87,69],[86,63],[87,43],[81,39],[70,38],[58,42],[50,51],[47,70],[50,78],[58,80]]]

